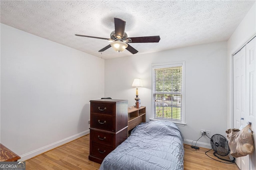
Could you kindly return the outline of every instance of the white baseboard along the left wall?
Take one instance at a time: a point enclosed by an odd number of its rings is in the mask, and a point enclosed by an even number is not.
[[[58,146],[61,146],[61,145],[65,144],[65,143],[71,142],[72,140],[75,140],[75,139],[77,139],[77,138],[80,138],[80,137],[82,137],[82,136],[84,136],[84,135],[86,135],[86,134],[89,134],[89,133],[90,133],[90,130],[88,129],[88,130],[86,130],[86,131],[84,131],[84,132],[80,132],[80,133],[75,134],[75,135],[73,135],[73,136],[70,136],[70,137],[68,137],[68,138],[59,140],[58,142],[54,142],[54,143],[49,144],[49,145],[47,145],[47,146],[44,146],[44,147],[42,147],[42,148],[33,150],[33,151],[31,151],[31,152],[28,152],[28,153],[26,153],[26,154],[21,155],[21,156],[20,156],[20,160],[18,160],[18,161],[19,161],[19,162],[23,162],[23,161],[25,161],[25,160],[28,160],[28,159],[30,159],[30,158],[33,158],[33,157],[35,157],[35,156],[37,156],[37,155],[40,155],[40,154],[42,154],[42,153],[44,153],[44,152],[47,152],[48,150],[51,150],[51,149],[56,148],[56,147],[58,147]]]

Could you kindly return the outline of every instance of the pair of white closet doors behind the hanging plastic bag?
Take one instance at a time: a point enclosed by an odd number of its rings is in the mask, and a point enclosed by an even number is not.
[[[234,128],[252,123],[256,141],[256,38],[234,55]],[[256,148],[256,142],[254,142]],[[240,170],[256,170],[254,153],[236,158]]]

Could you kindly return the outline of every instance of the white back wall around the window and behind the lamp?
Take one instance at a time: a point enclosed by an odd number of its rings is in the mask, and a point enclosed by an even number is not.
[[[138,49],[139,50],[139,49]],[[227,44],[226,42],[196,45],[156,53],[105,60],[105,96],[128,99],[135,104],[134,78],[141,78],[141,105],[146,106],[147,120],[152,118],[151,64],[185,61],[186,125],[179,126],[185,143],[200,137],[201,129],[225,135],[227,122]],[[210,148],[203,137],[198,146]]]

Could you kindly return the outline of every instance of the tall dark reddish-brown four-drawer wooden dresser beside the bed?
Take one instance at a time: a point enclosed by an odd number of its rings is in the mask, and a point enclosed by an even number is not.
[[[128,137],[128,101],[99,99],[90,101],[89,160],[103,159]]]

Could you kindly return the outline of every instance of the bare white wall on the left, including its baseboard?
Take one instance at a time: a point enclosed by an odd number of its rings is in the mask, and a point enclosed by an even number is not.
[[[1,24],[1,143],[26,160],[89,133],[104,60]]]

